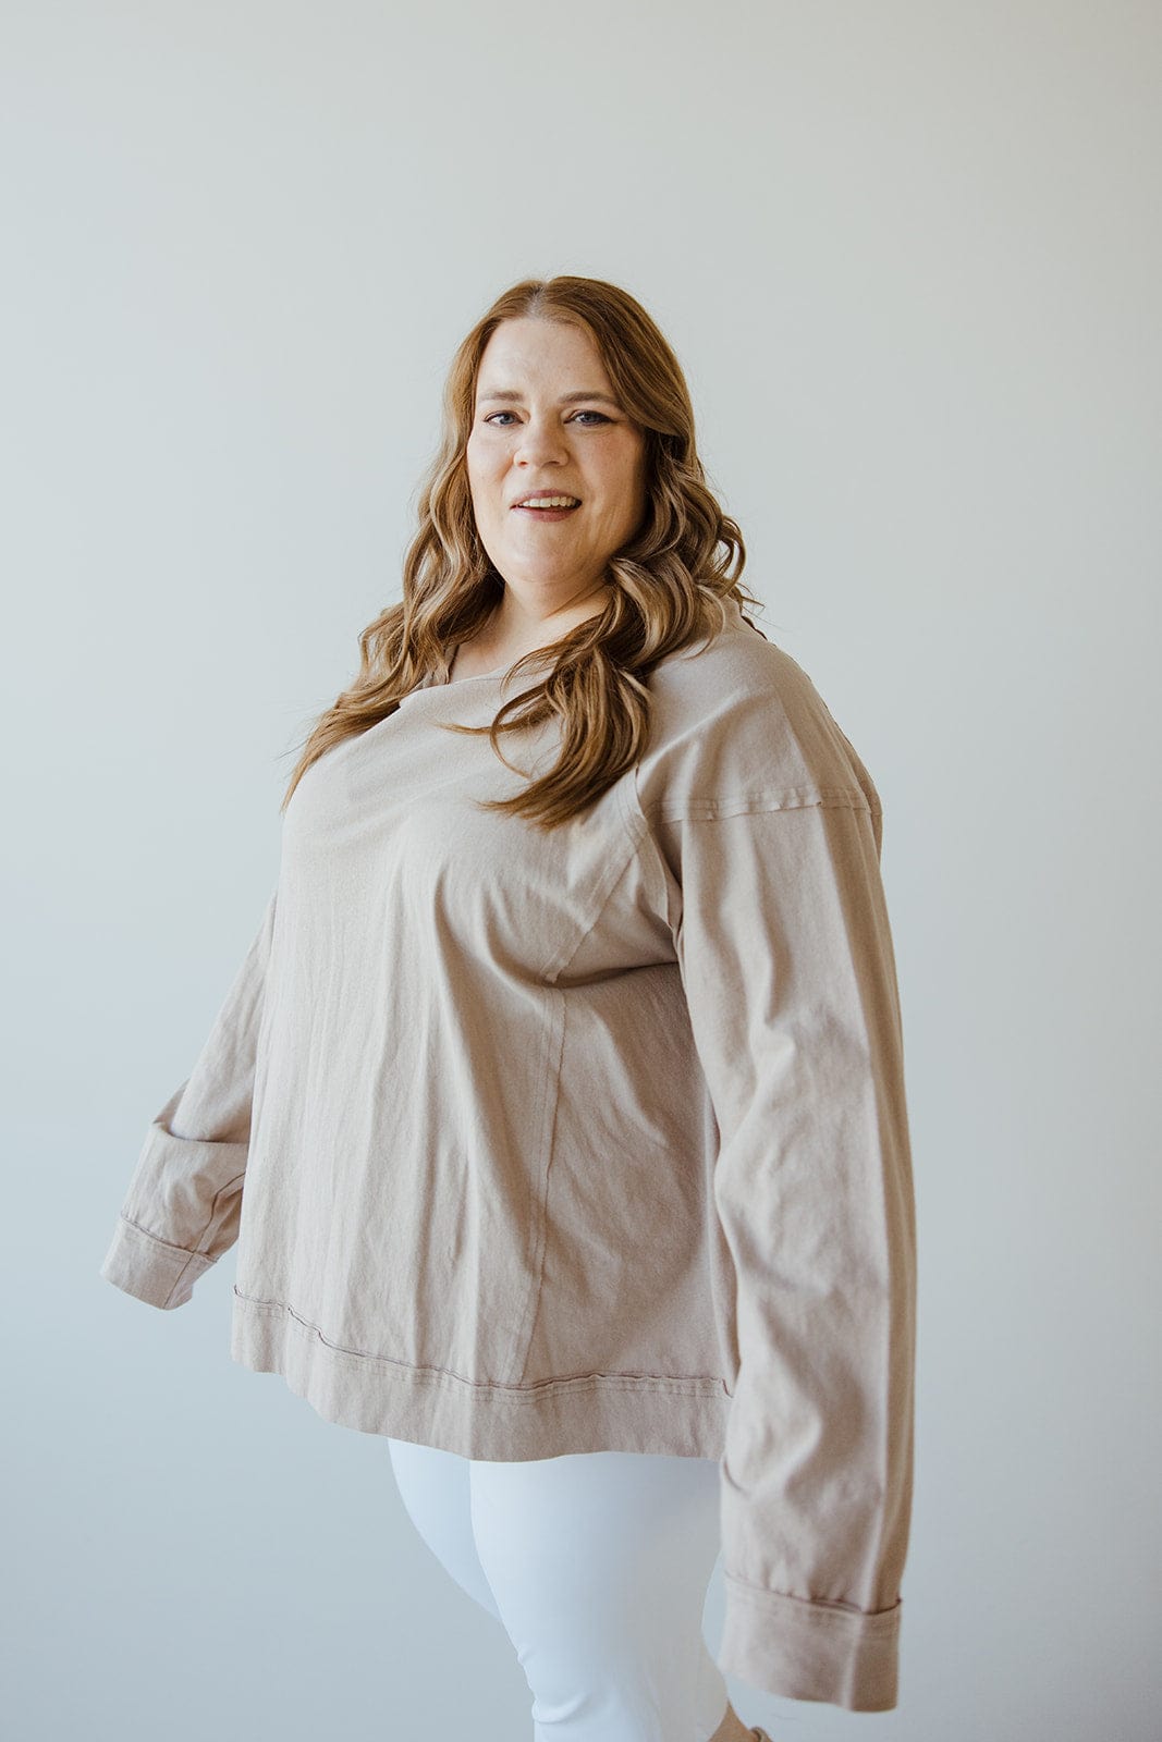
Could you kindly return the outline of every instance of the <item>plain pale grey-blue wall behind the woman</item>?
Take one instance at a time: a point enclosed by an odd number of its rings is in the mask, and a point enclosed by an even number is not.
[[[232,1364],[233,1254],[169,1313],[98,1266],[399,598],[451,354],[577,272],[678,350],[760,620],[885,805],[901,1704],[733,1704],[1157,1737],[1162,9],[0,14],[5,1732],[531,1735],[385,1442]]]

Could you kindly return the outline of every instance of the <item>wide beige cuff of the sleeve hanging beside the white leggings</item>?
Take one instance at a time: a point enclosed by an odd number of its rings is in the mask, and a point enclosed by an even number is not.
[[[807,1603],[725,1575],[726,1620],[718,1650],[725,1676],[791,1700],[828,1700],[848,1712],[899,1704],[899,1627],[890,1610]]]

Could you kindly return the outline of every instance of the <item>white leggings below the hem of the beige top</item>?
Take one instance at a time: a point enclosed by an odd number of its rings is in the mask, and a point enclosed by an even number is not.
[[[702,1637],[719,1549],[714,1460],[491,1463],[388,1448],[420,1536],[516,1648],[533,1742],[709,1742],[728,1704]]]

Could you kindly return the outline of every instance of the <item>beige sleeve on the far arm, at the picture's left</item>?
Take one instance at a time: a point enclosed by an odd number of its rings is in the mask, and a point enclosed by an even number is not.
[[[186,1082],[150,1124],[99,1275],[181,1306],[239,1235],[277,890]]]

